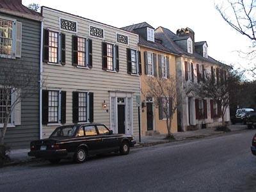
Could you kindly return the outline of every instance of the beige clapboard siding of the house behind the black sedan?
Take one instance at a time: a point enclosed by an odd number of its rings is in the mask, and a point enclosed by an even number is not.
[[[44,8],[44,28],[60,31],[60,17],[77,22],[77,34],[68,31],[65,33],[66,63],[63,66],[44,63],[43,78],[44,89],[61,89],[67,92],[66,100],[66,123],[72,124],[72,92],[84,90],[93,92],[93,116],[94,122],[101,122],[110,125],[109,91],[129,92],[133,97],[133,132],[138,134],[138,108],[135,106],[136,95],[140,95],[140,76],[127,74],[127,48],[138,50],[138,35],[129,33],[100,22],[83,19],[68,13],[58,12]],[[89,27],[104,29],[104,39],[95,38],[89,35]],[[116,33],[129,36],[129,45],[116,43]],[[92,61],[93,67],[79,68],[72,65],[72,35],[90,38],[92,40]],[[102,70],[102,42],[116,44],[119,47],[119,72],[106,72]],[[102,108],[102,102],[106,101],[107,108]],[[44,137],[49,136],[54,126],[43,126]]]

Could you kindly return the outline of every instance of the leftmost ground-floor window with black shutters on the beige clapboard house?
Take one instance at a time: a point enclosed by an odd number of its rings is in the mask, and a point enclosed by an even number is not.
[[[66,92],[59,90],[43,90],[42,92],[43,124],[65,124]]]

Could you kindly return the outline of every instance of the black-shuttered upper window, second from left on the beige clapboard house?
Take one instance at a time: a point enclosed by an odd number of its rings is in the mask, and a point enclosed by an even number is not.
[[[92,68],[92,40],[72,36],[72,65]]]

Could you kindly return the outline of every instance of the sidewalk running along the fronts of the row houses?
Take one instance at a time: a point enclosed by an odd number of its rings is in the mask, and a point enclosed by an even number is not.
[[[231,131],[241,131],[247,129],[246,125],[230,125],[229,126]],[[198,129],[196,131],[186,131],[186,132],[176,132],[173,133],[175,141],[182,141],[182,140],[189,140],[193,138],[204,138],[207,136],[212,136],[215,134],[223,134],[223,131],[214,131],[214,128],[207,128],[207,129]],[[139,142],[139,137],[136,137],[135,140],[137,144],[135,147],[143,147],[143,146],[150,146],[156,145],[159,143],[168,143],[169,140],[164,140],[166,134],[158,134],[155,136],[141,136],[141,142]],[[11,150],[8,156],[11,159],[10,163],[6,165],[12,164],[19,164],[19,163],[26,163],[29,161],[34,161],[35,158],[29,157],[28,152],[29,148],[22,148],[22,149],[15,149]]]

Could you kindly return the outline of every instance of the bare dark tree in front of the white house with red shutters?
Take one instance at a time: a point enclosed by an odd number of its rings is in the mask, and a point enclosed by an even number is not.
[[[210,98],[217,104],[223,127],[225,127],[224,115],[230,104],[230,98],[236,97],[240,84],[241,76],[232,69],[221,70],[217,77],[206,72],[205,79],[195,84],[195,90],[200,97]]]

